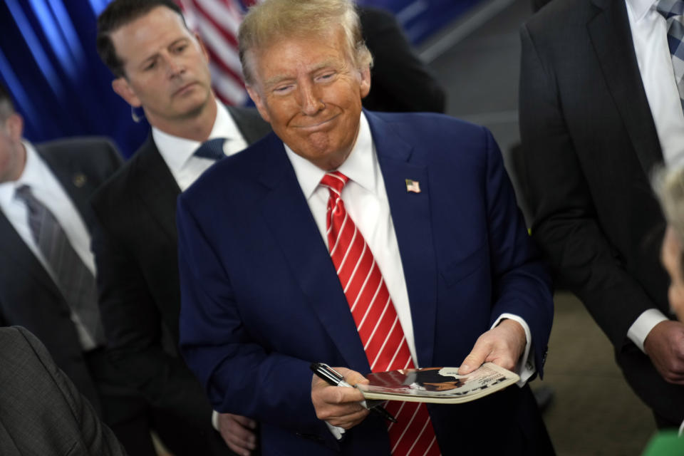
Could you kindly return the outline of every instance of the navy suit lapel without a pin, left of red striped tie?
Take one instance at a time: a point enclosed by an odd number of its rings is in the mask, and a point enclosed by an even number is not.
[[[294,169],[276,135],[268,140],[269,156],[262,162],[269,166],[261,173],[261,183],[268,188],[262,207],[264,220],[312,311],[347,365],[362,372],[370,371],[335,267]]]

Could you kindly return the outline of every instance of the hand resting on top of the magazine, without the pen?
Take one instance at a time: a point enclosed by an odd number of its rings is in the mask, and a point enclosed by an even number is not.
[[[522,325],[509,318],[502,320],[495,328],[477,338],[472,351],[458,368],[458,373],[471,373],[487,361],[512,371],[526,344],[527,339]]]

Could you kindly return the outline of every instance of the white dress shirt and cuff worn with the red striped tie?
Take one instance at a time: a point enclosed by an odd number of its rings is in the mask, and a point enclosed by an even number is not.
[[[318,185],[326,172],[304,157],[294,153],[287,145],[285,145],[285,150],[294,167],[294,172],[301,190],[304,192],[304,197],[306,197],[306,201],[309,203],[309,209],[311,209],[311,214],[314,216],[318,231],[321,233],[321,237],[323,237],[323,242],[327,245],[326,212],[329,192],[326,187]],[[422,366],[416,356],[413,322],[411,321],[411,310],[399,254],[399,245],[394,231],[392,215],[390,214],[387,192],[385,192],[385,181],[383,180],[382,172],[380,172],[375,145],[373,145],[371,129],[368,126],[366,115],[363,113],[361,113],[361,123],[356,144],[345,162],[338,168],[338,171],[349,177],[349,182],[347,182],[342,190],[344,207],[349,217],[356,224],[356,227],[363,234],[363,239],[366,240],[368,248],[373,252],[373,257],[383,274],[383,279],[403,328],[413,363],[417,368],[431,367]],[[527,363],[532,340],[529,326],[519,316],[502,314],[492,327],[496,326],[502,318],[512,318],[521,323],[527,336],[524,356],[517,369],[521,378],[519,385],[522,386],[534,373],[534,366]]]

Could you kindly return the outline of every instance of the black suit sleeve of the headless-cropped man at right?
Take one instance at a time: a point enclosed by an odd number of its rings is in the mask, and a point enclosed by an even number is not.
[[[520,134],[532,237],[616,348],[651,299],[618,259],[599,223],[575,142],[566,125],[554,68],[521,29]],[[578,94],[581,96],[581,94]],[[590,103],[590,100],[587,100]],[[619,309],[619,311],[615,311]]]

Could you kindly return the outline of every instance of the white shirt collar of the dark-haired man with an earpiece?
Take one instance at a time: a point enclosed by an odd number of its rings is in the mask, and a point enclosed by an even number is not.
[[[242,133],[240,133],[226,107],[219,103],[218,100],[216,101],[216,106],[216,120],[214,120],[214,126],[207,139],[227,138],[230,140],[231,138],[242,138]],[[192,154],[195,153],[197,147],[202,144],[199,141],[170,135],[155,127],[152,127],[152,138],[155,140],[157,149],[172,172],[180,171],[187,163],[187,160],[190,160]]]

